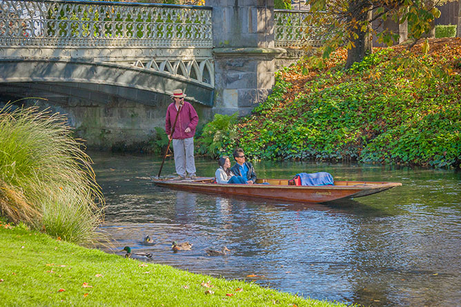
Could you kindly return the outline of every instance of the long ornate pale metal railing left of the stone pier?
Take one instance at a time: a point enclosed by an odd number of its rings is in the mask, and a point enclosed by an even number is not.
[[[0,0],[0,45],[212,48],[211,8]]]

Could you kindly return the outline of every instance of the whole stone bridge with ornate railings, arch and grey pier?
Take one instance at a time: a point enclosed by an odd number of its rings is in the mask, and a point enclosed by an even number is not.
[[[320,42],[304,37],[307,13],[271,0],[206,5],[0,0],[0,95],[48,99],[90,145],[145,141],[175,88],[204,121],[245,115],[299,58],[289,48]]]

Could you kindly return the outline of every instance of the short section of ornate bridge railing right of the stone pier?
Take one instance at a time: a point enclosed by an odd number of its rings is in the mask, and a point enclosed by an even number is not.
[[[306,32],[306,17],[310,12],[302,10],[275,10],[275,47],[321,46],[321,28]]]

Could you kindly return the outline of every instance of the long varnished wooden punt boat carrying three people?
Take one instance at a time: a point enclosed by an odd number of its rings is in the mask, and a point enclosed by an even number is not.
[[[288,186],[288,179],[258,179],[257,184],[214,184],[213,181],[210,177],[179,181],[153,178],[157,186],[177,190],[310,203],[363,197],[402,186],[398,182],[377,181],[335,181],[334,186]],[[265,182],[268,184],[263,184]]]

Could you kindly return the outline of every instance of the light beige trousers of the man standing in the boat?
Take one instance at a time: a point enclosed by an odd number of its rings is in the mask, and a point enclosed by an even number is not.
[[[173,152],[177,175],[186,177],[186,171],[195,175],[194,138],[173,139]]]

